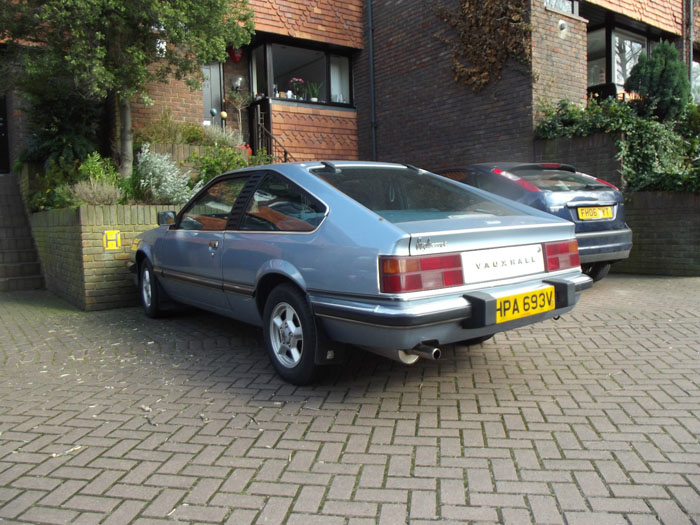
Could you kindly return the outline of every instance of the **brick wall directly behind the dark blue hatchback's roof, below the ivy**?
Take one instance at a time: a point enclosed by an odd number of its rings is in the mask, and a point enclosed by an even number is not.
[[[621,187],[620,161],[615,137],[599,133],[588,137],[536,140],[535,162],[562,162]]]

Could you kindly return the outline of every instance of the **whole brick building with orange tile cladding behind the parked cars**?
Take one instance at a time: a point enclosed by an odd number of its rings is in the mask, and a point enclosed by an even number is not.
[[[694,62],[700,95],[700,25],[693,15],[691,36],[691,1],[528,0],[531,66],[523,74],[507,63],[500,81],[474,93],[452,78],[451,49],[436,38],[452,30],[437,16],[437,3],[250,0],[251,44],[231,50],[225,64],[205,65],[202,90],[175,80],[151,86],[154,104],[134,102],[134,126],[165,109],[175,120],[211,125],[222,125],[224,109],[226,125],[237,126],[226,98],[240,90],[253,99],[241,119],[245,140],[278,156],[286,150],[296,160],[365,158],[426,168],[530,160],[540,103],[620,92],[639,54],[661,39]],[[439,4],[457,9],[459,0]],[[315,100],[294,92],[294,78],[318,88]],[[9,100],[7,106],[0,125],[5,135],[10,128],[11,152],[21,145],[12,133],[21,115]],[[5,151],[0,144],[0,156]]]

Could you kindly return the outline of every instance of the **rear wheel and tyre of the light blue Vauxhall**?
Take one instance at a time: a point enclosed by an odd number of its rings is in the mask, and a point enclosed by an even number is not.
[[[270,362],[282,379],[295,385],[314,380],[316,322],[297,288],[281,284],[272,290],[263,311],[263,335]]]

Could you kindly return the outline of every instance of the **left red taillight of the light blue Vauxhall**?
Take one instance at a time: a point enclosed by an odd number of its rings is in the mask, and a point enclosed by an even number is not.
[[[384,293],[436,290],[464,284],[459,254],[422,257],[380,257],[379,280]]]

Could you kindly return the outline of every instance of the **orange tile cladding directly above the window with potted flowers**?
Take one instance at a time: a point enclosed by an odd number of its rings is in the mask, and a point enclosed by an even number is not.
[[[362,47],[363,0],[250,0],[255,30]]]

